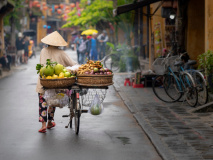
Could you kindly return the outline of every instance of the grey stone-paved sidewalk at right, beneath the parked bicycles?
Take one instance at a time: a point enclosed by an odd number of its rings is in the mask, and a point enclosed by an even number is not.
[[[211,112],[191,113],[186,103],[161,102],[151,87],[125,87],[126,77],[115,74],[114,87],[163,159],[213,159]]]

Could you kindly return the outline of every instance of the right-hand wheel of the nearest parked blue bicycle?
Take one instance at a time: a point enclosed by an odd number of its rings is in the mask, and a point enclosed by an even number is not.
[[[195,107],[198,102],[198,93],[195,87],[195,82],[189,73],[183,73],[183,84],[185,85],[185,98],[191,107]]]

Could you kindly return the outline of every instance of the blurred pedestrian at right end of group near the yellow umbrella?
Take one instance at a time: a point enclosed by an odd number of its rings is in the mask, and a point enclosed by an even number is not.
[[[108,36],[107,32],[103,30],[102,34],[98,36],[98,41],[99,41],[99,59],[103,59],[105,57],[105,52],[106,52],[106,42],[108,41]]]

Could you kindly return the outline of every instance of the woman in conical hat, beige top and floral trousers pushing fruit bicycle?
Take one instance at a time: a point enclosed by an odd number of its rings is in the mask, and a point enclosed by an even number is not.
[[[62,38],[62,36],[57,32],[53,32],[48,36],[44,37],[41,42],[48,45],[47,48],[43,48],[40,54],[40,64],[45,65],[47,59],[51,59],[53,62],[58,62],[63,66],[73,66],[76,64],[75,61],[69,58],[69,56],[63,51],[58,49],[59,46],[67,46],[67,42]],[[42,122],[42,127],[39,130],[40,133],[45,133],[46,128],[50,129],[55,127],[54,119],[55,107],[49,107],[47,113],[47,104],[43,98],[44,90],[40,84],[40,79],[38,78],[36,92],[39,94],[39,122]],[[48,115],[48,123],[47,122]]]

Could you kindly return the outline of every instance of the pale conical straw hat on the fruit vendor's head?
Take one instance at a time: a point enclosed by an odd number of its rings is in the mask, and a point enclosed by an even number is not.
[[[41,39],[41,41],[51,46],[67,46],[67,42],[57,31],[47,35],[46,37]]]

